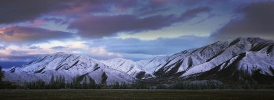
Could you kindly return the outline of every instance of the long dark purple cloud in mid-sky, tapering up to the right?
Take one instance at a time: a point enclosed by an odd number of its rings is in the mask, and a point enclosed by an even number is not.
[[[101,38],[112,36],[117,32],[139,32],[145,30],[160,29],[176,22],[187,21],[197,16],[200,12],[208,12],[210,8],[195,8],[188,10],[181,16],[148,16],[138,18],[133,15],[117,16],[86,16],[73,22],[69,29],[78,29],[78,34],[85,38]]]

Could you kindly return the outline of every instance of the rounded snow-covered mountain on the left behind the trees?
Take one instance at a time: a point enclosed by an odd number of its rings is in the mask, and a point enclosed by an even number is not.
[[[66,82],[71,82],[73,77],[79,75],[91,77],[99,84],[103,73],[108,77],[107,84],[114,84],[116,81],[127,83],[134,81],[134,78],[127,75],[127,73],[116,70],[86,55],[73,55],[62,52],[47,55],[21,67],[12,67],[3,71],[6,71],[5,79],[12,82],[18,80],[32,82],[38,79],[49,82],[51,75],[64,76]]]

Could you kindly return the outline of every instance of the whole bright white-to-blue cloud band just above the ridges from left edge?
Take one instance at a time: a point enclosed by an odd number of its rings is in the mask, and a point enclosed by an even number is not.
[[[208,37],[181,36],[178,38],[158,38],[155,40],[101,38],[91,41],[64,41],[63,44],[48,42],[39,46],[10,45],[5,47],[5,49],[0,49],[0,62],[29,62],[59,51],[88,55],[97,60],[126,58],[137,61],[157,55],[170,55],[184,51],[185,49],[202,47],[210,43],[208,41]]]

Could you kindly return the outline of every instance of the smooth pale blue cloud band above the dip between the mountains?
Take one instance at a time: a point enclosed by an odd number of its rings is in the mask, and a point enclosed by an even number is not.
[[[139,40],[136,38],[103,38],[93,40],[90,47],[105,46],[110,52],[145,55],[170,55],[185,49],[202,47],[210,43],[208,37],[180,36],[178,38],[157,38]]]

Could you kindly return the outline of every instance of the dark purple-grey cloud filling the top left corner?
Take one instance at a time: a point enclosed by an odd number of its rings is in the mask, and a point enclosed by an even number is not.
[[[41,14],[69,8],[62,0],[1,0],[0,24],[32,20]]]

